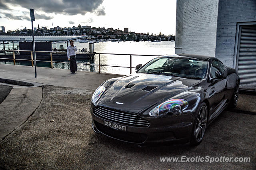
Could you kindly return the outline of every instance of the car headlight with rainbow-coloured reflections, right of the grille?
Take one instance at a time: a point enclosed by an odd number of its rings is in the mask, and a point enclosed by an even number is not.
[[[178,115],[187,107],[188,101],[184,99],[170,99],[152,109],[149,115],[154,117],[158,117],[162,114]]]

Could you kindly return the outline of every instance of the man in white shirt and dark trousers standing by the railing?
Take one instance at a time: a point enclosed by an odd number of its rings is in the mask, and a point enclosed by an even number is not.
[[[74,41],[70,40],[70,45],[67,47],[67,54],[68,54],[68,60],[70,65],[70,71],[72,74],[76,73],[77,66],[76,66],[76,47],[74,46]]]

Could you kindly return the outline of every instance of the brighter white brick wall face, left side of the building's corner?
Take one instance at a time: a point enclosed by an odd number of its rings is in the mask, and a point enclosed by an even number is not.
[[[218,0],[177,0],[176,10],[175,53],[214,56]]]

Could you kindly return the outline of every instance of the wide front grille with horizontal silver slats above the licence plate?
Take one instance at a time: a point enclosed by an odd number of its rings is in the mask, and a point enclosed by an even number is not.
[[[106,107],[96,107],[93,113],[102,119],[134,127],[148,127],[150,124],[149,121],[142,119],[138,115]]]

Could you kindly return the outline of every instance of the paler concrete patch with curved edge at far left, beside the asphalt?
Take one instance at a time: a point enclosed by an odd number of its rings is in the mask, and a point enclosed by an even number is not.
[[[0,139],[22,125],[41,100],[42,87],[12,89],[0,104]]]

